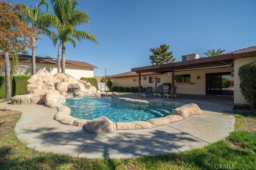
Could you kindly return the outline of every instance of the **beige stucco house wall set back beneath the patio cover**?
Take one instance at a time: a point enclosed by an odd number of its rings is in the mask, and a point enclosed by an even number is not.
[[[177,93],[178,94],[195,94],[195,95],[205,95],[205,74],[206,73],[219,73],[219,72],[232,72],[233,67],[223,67],[216,69],[204,69],[204,70],[191,70],[191,71],[177,71],[175,75],[190,74],[190,84],[177,83]],[[164,73],[162,75],[154,75],[154,77],[161,77],[161,83],[171,83],[172,73]],[[197,79],[197,76],[200,78]],[[146,80],[143,80],[146,78]],[[135,80],[135,81],[134,81]],[[111,78],[113,86],[121,87],[135,87],[138,86],[138,77],[128,77],[128,78]],[[155,88],[155,82],[149,83],[149,76],[141,76],[141,86],[142,87],[153,87]]]

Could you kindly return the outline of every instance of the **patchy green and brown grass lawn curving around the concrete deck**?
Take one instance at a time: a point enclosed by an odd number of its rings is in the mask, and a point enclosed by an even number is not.
[[[236,112],[234,132],[201,149],[133,159],[82,159],[26,148],[14,133],[20,112],[0,110],[0,169],[214,169],[215,164],[219,169],[220,164],[256,169],[255,115]]]

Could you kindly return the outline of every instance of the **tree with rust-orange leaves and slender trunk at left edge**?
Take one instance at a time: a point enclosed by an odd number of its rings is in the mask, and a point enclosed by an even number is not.
[[[4,53],[5,60],[5,90],[6,99],[11,99],[11,78],[10,78],[10,53],[24,53],[30,47],[30,40],[38,38],[34,32],[36,28],[28,27],[20,20],[23,15],[23,7],[15,7],[5,2],[0,2],[0,50]]]

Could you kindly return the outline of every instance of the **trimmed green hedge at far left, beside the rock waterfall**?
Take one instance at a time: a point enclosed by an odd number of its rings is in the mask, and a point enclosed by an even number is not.
[[[30,79],[31,75],[14,75],[11,82],[11,94],[26,95],[27,92],[27,80]],[[0,75],[0,99],[5,98],[5,76]]]

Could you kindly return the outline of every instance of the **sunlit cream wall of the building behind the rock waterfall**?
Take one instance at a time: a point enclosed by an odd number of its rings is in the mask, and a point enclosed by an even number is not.
[[[43,64],[36,63],[36,71],[49,71],[51,74],[57,73],[57,65],[54,64]],[[66,74],[73,76],[74,78],[80,79],[81,77],[91,78],[94,77],[93,68],[84,67],[72,67],[66,66]],[[31,63],[19,62],[17,72],[15,74],[31,74]],[[4,69],[0,69],[0,74],[4,74]]]

